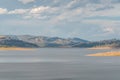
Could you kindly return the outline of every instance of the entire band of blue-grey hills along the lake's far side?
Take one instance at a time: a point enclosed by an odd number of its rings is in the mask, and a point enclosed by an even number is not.
[[[102,41],[87,41],[80,38],[60,38],[60,37],[45,37],[32,35],[2,35],[0,36],[0,46],[15,46],[15,47],[111,47],[120,48],[120,40],[102,40]]]

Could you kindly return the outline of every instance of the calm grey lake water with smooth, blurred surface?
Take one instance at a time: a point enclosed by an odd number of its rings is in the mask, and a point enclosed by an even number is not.
[[[108,50],[41,48],[0,51],[0,80],[120,80],[120,57],[88,57]]]

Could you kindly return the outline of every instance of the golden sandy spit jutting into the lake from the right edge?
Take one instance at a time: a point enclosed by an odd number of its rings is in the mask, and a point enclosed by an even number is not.
[[[88,54],[86,56],[120,56],[120,52],[96,53],[96,54]]]

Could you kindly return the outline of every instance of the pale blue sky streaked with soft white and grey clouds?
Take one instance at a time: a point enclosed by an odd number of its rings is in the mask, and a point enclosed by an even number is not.
[[[0,0],[0,35],[120,39],[120,0]]]

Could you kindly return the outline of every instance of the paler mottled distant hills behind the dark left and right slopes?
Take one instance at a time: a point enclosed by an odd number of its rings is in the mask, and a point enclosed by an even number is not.
[[[45,36],[32,36],[32,35],[7,35],[6,37],[21,40],[24,42],[36,44],[39,47],[71,47],[71,43],[84,43],[88,42],[80,38],[60,38],[60,37],[45,37]]]

